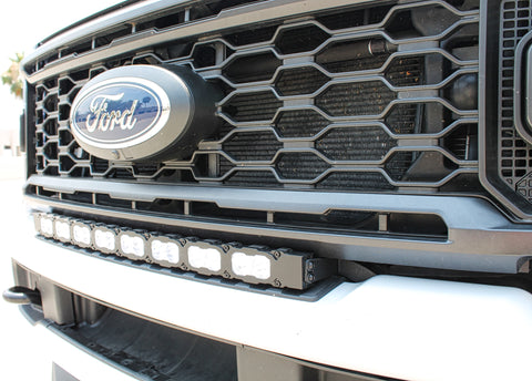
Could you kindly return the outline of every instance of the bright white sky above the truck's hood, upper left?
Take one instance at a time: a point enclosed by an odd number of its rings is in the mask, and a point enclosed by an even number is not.
[[[0,17],[0,73],[6,72],[16,52],[30,53],[48,35],[115,4],[116,0],[16,0],[2,3]],[[19,127],[23,103],[9,86],[0,83],[0,130]]]

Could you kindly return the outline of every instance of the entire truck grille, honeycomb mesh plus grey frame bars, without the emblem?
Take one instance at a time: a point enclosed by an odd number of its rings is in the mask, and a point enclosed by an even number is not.
[[[512,125],[511,82],[531,12],[499,0],[125,7],[24,62],[28,199],[88,224],[339,265],[525,270],[510,218],[532,216],[532,148]],[[185,66],[219,90],[217,126],[188,156],[172,158],[175,144],[164,159],[108,161],[75,142],[84,84],[137,64]]]

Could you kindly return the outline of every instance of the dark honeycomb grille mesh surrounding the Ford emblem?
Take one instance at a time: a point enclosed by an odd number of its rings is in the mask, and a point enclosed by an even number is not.
[[[48,78],[34,87],[34,172],[269,188],[462,189],[478,177],[478,107],[459,91],[477,85],[479,14],[478,2],[453,3],[359,4],[168,41]],[[83,84],[140,63],[188,65],[224,91],[222,127],[190,159],[111,163],[73,140],[70,107]]]

